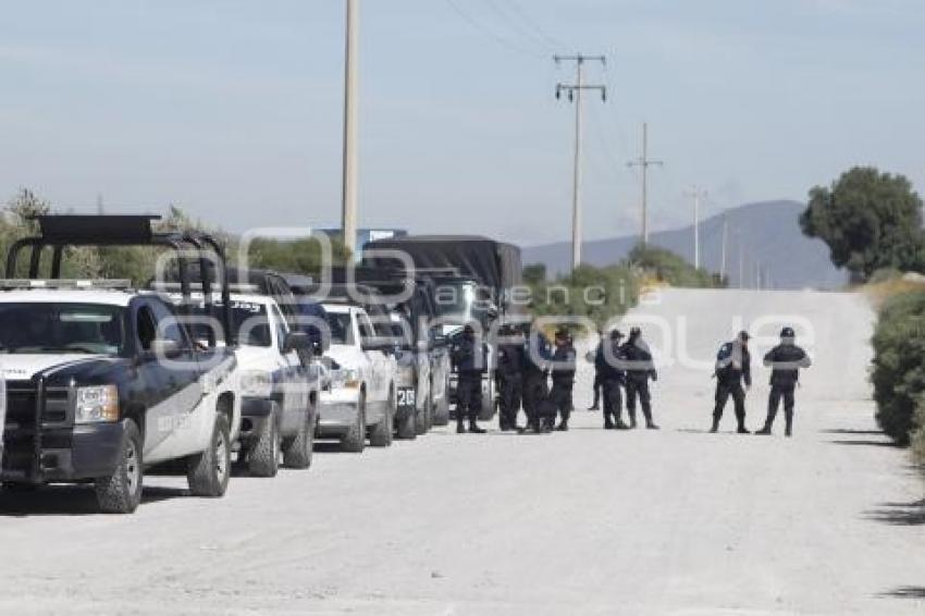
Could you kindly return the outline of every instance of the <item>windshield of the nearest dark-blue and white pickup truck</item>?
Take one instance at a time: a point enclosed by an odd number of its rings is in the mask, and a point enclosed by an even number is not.
[[[0,353],[121,355],[124,313],[102,304],[0,304]]]

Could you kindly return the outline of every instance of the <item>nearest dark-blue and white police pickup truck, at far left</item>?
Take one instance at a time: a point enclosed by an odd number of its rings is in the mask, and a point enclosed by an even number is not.
[[[199,346],[161,298],[111,281],[0,281],[4,485],[92,482],[132,513],[144,469],[186,461],[221,496],[240,426],[231,348]]]

